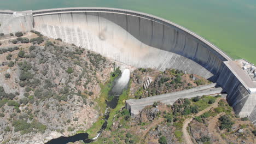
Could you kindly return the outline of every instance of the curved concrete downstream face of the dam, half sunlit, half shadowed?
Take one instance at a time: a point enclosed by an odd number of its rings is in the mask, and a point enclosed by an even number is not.
[[[148,17],[102,11],[33,16],[36,31],[137,68],[174,68],[216,81],[227,59],[193,35]]]

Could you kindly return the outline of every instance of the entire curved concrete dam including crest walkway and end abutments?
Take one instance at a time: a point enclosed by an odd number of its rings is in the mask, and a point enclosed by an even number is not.
[[[0,10],[0,23],[0,32],[34,29],[132,67],[174,68],[200,75],[228,93],[228,103],[237,115],[256,124],[254,78],[238,61],[176,23],[114,8]]]

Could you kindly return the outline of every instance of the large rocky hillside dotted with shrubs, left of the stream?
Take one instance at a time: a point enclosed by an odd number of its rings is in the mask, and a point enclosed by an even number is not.
[[[86,130],[113,63],[39,32],[0,38],[0,143],[44,143]]]

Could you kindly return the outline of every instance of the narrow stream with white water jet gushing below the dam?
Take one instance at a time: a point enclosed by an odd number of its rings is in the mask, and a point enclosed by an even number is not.
[[[110,109],[114,109],[117,106],[119,96],[123,93],[123,91],[125,89],[127,89],[129,80],[130,80],[130,70],[129,69],[125,69],[123,71],[123,73],[121,74],[121,76],[118,76],[117,78],[115,78],[115,80],[113,82],[113,87],[111,88],[111,90],[108,93],[108,98],[110,98],[110,100],[106,102],[107,109],[104,113],[104,123],[103,123],[100,131],[97,132],[96,137],[89,139],[88,133],[80,133],[80,134],[75,134],[73,136],[68,136],[68,137],[61,136],[61,137],[58,137],[57,139],[50,140],[50,141],[46,142],[45,144],[56,144],[56,143],[65,144],[68,142],[75,142],[75,141],[80,141],[80,140],[82,140],[84,143],[90,143],[90,142],[96,140],[101,135],[102,131],[104,129],[106,129],[107,124],[108,124]]]

